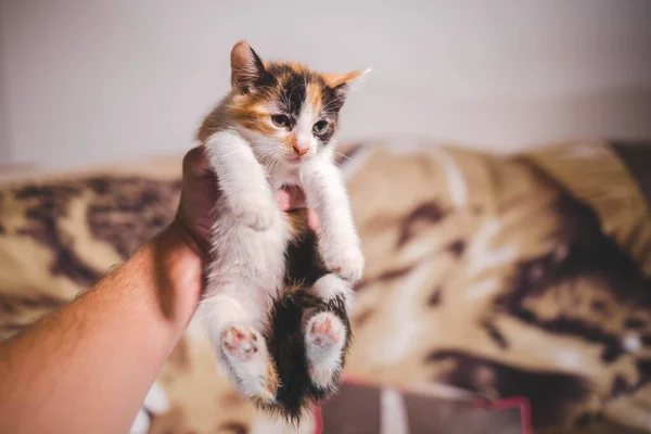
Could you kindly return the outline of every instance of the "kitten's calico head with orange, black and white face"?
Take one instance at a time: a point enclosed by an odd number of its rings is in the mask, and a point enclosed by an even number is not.
[[[244,41],[231,51],[231,118],[258,158],[290,165],[333,140],[350,85],[370,71],[321,74],[297,63],[263,62]]]

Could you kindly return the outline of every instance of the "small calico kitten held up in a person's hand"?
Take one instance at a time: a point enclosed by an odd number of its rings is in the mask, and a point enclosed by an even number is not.
[[[365,261],[334,144],[346,94],[367,71],[263,62],[244,41],[231,69],[231,92],[197,133],[222,192],[199,315],[240,390],[297,420],[333,391],[350,341],[350,288]],[[279,209],[282,186],[304,190],[318,237],[305,212]]]

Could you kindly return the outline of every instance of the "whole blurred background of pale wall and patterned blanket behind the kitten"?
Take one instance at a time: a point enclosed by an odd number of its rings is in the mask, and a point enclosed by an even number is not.
[[[279,427],[191,324],[132,433],[651,433],[648,0],[0,0],[0,341],[171,221],[240,39],[373,68],[346,381]]]

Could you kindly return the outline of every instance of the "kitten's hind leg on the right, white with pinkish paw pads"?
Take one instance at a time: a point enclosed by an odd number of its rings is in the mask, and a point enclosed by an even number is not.
[[[315,283],[314,291],[324,303],[335,298],[342,301],[340,315],[348,315],[352,290],[347,282],[335,275],[326,275]],[[322,390],[328,391],[333,387],[343,368],[346,327],[333,311],[315,315],[305,327],[305,347],[310,378],[314,384]]]

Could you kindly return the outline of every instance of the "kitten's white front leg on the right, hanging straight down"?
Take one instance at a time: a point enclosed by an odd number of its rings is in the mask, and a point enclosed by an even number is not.
[[[365,260],[341,171],[332,162],[311,161],[302,167],[301,182],[308,206],[319,217],[319,250],[326,266],[356,283]]]

